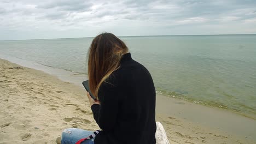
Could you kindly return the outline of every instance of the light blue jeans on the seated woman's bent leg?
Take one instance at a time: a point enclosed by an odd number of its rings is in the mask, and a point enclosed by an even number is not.
[[[61,144],[75,144],[80,139],[86,138],[93,134],[94,131],[83,129],[69,128],[62,131]],[[94,139],[85,140],[81,144],[94,144]]]

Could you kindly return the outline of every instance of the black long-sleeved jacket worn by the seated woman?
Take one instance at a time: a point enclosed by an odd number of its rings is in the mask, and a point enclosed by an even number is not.
[[[155,143],[155,87],[149,71],[126,53],[102,83],[91,110],[102,129],[95,144]]]

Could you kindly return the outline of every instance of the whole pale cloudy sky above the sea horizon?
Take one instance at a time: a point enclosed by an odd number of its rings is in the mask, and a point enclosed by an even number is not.
[[[0,40],[256,33],[255,0],[0,0]]]

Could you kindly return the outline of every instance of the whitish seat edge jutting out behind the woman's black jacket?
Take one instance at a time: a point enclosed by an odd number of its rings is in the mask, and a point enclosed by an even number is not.
[[[155,133],[156,144],[170,144],[167,139],[165,129],[162,127],[160,122],[156,122],[156,133]]]

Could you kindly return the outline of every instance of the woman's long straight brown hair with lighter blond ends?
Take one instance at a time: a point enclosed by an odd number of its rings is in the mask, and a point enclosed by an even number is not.
[[[121,57],[128,52],[123,41],[112,33],[102,33],[92,40],[88,58],[89,86],[98,99],[98,89],[113,71],[120,67]]]

